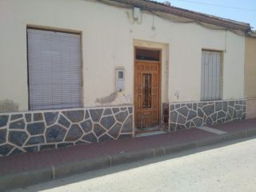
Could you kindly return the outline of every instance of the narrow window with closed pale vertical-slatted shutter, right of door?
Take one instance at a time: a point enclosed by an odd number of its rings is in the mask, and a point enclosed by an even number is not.
[[[201,100],[222,99],[221,52],[202,50]]]

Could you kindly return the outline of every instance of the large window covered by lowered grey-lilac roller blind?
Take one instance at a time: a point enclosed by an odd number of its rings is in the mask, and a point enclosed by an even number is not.
[[[30,110],[82,106],[80,34],[27,29]]]

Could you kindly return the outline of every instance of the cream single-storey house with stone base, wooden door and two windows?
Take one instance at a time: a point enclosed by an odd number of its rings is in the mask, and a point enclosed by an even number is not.
[[[246,119],[247,23],[142,0],[0,9],[0,155]]]

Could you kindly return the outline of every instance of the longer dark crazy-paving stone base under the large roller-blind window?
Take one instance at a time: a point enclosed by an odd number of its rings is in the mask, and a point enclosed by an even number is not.
[[[133,135],[131,106],[0,114],[0,156]]]

